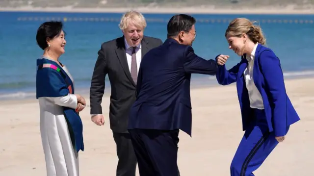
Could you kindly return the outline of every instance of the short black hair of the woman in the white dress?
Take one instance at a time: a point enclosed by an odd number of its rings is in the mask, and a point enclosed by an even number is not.
[[[63,29],[62,22],[50,21],[41,24],[37,29],[36,41],[37,45],[45,50],[48,47],[47,38],[53,39],[60,35]]]

